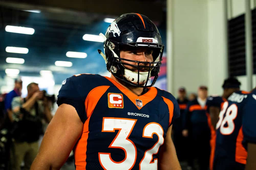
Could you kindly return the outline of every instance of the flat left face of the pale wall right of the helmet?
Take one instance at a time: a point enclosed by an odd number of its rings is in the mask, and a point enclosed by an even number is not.
[[[173,0],[173,89],[208,85],[208,9],[205,0]],[[168,48],[168,47],[167,47]],[[168,62],[168,61],[167,61]]]

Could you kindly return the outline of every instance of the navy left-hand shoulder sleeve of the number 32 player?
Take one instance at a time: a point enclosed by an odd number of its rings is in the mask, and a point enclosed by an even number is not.
[[[85,99],[83,96],[81,96],[81,93],[79,93],[77,85],[74,84],[73,79],[75,78],[77,77],[72,76],[64,81],[59,91],[57,104],[60,106],[61,104],[65,103],[73,106],[76,109],[81,121],[84,123],[87,119],[84,105]]]

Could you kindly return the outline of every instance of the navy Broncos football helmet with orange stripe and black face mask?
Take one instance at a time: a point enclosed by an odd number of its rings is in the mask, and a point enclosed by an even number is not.
[[[106,30],[104,38],[107,70],[116,78],[135,87],[151,87],[155,84],[160,71],[164,45],[156,25],[146,16],[129,13],[115,19]],[[150,49],[153,62],[120,58],[122,49]],[[130,63],[136,64],[129,64]],[[131,66],[134,70],[127,69]],[[152,78],[151,78],[152,77]]]

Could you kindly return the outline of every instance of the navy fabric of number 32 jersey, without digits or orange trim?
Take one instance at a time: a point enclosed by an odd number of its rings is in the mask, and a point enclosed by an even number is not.
[[[158,123],[164,131],[163,137],[166,137],[166,132],[169,125],[169,108],[164,102],[163,97],[173,102],[174,110],[172,122],[179,117],[179,107],[176,99],[170,93],[157,89],[156,97],[148,102],[139,110],[135,104],[124,94],[118,87],[110,82],[105,77],[100,75],[72,76],[62,85],[58,95],[58,105],[67,103],[76,108],[77,113],[82,122],[85,122],[86,108],[84,101],[90,91],[98,86],[110,86],[106,92],[100,97],[93,113],[89,120],[89,133],[87,139],[86,150],[86,169],[103,169],[99,162],[99,153],[111,153],[111,158],[116,161],[122,161],[125,158],[124,150],[120,148],[110,148],[111,142],[118,135],[119,130],[115,132],[102,132],[102,124],[104,117],[134,119],[137,120],[129,140],[131,140],[137,150],[136,162],[132,169],[139,169],[140,161],[142,160],[146,150],[152,148],[158,141],[158,136],[153,134],[153,138],[142,137],[143,129],[148,123]],[[153,87],[152,87],[153,88]],[[108,107],[108,93],[116,93],[123,95],[123,108]],[[139,98],[139,97],[138,97]],[[129,113],[140,113],[148,115],[148,117],[131,115]],[[172,124],[172,123],[171,123]],[[80,139],[79,139],[80,140]],[[160,147],[161,149],[161,147]],[[159,152],[158,152],[159,153]],[[159,154],[153,154],[153,160],[159,157]],[[74,153],[76,154],[76,153]]]

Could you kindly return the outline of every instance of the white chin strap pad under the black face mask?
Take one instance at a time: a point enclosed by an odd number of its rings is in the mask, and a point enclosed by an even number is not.
[[[149,73],[151,74],[151,73]],[[140,72],[140,80],[139,84],[145,84],[147,81],[148,71],[147,72]],[[134,72],[128,69],[124,69],[124,77],[132,82],[133,84],[138,84],[138,72]],[[149,75],[151,77],[151,75]]]

